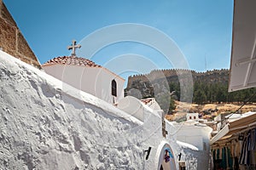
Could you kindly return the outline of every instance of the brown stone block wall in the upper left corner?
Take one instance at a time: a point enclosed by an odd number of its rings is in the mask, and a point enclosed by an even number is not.
[[[41,69],[36,55],[32,52],[2,0],[0,0],[0,49]]]

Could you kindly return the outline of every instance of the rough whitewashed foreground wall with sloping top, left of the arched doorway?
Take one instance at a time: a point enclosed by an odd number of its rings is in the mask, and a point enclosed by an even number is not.
[[[143,169],[136,118],[2,51],[0,82],[0,169]]]

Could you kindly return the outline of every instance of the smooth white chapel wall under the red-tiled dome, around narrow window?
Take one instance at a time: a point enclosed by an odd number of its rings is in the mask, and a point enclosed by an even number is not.
[[[105,68],[82,67],[76,65],[45,65],[43,69],[49,75],[58,78],[62,82],[67,82],[74,88],[78,88],[86,93],[92,94],[100,99],[113,103],[111,95],[111,82],[117,82],[117,97],[114,102],[124,97],[125,80],[117,77]]]

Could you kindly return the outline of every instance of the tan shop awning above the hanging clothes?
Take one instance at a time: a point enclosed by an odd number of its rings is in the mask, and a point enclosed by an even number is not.
[[[226,124],[225,127],[222,128],[211,139],[210,144],[214,144],[215,142],[218,142],[224,139],[230,139],[235,134],[242,133],[243,131],[253,127],[256,127],[256,113]]]

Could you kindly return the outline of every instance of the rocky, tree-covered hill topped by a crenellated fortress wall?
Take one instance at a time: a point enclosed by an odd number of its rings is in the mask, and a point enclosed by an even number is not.
[[[256,88],[228,93],[229,74],[230,71],[225,69],[206,72],[151,71],[146,75],[129,77],[125,94],[137,98],[147,98],[155,97],[159,91],[163,93],[175,91],[175,95],[172,95],[173,99],[186,101],[185,97],[193,95],[193,102],[200,105],[214,102],[243,102],[247,99],[255,102],[256,95],[252,95],[256,94]],[[184,86],[187,86],[185,92],[182,91]]]

